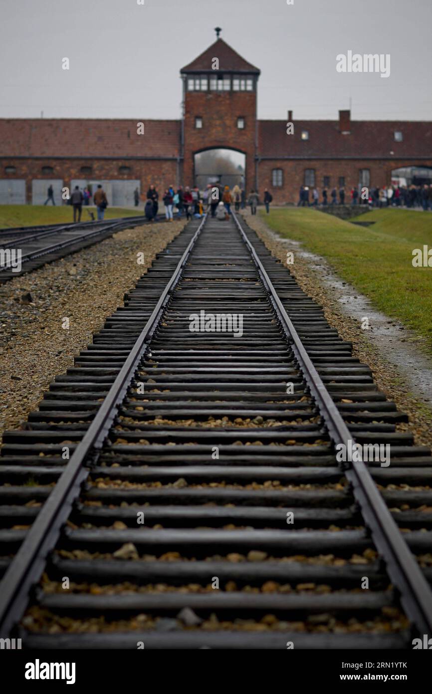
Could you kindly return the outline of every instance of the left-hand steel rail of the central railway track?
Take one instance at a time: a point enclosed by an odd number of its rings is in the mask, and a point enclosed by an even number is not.
[[[130,350],[126,362],[121,367],[103,403],[101,403],[101,407],[99,407],[85,436],[78,443],[58,483],[46,499],[3,576],[3,590],[0,595],[0,635],[2,638],[11,632],[26,609],[31,588],[40,579],[46,564],[46,557],[58,541],[62,525],[67,521],[72,505],[79,496],[81,485],[89,475],[89,468],[85,468],[84,464],[86,461],[88,463],[89,457],[92,457],[92,464],[97,461],[103,442],[116,416],[117,408],[121,404],[139,362],[144,356],[148,338],[153,335],[157,323],[159,323],[171,292],[180,280],[184,265],[206,220],[207,214],[202,219],[175,267],[173,275],[162,291],[150,318]]]

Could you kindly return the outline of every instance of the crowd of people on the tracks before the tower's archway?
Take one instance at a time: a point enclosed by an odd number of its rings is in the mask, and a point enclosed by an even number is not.
[[[264,191],[263,202],[266,206],[266,211],[270,211],[270,203],[273,197],[268,192]],[[173,185],[170,185],[164,190],[162,201],[165,206],[165,216],[167,221],[173,221],[174,214],[181,219],[183,215],[187,219],[192,217],[202,217],[207,210],[211,217],[218,219],[229,219],[231,214],[231,206],[234,205],[234,210],[244,210],[246,205],[250,206],[252,214],[256,214],[259,196],[257,191],[251,190],[247,196],[245,189],[239,185],[234,185],[232,189],[228,185],[222,186],[219,183],[209,183],[204,191],[200,191],[198,186],[183,188],[179,185],[177,190]],[[144,205],[144,214],[148,221],[154,221],[159,210],[159,192],[155,185],[150,185],[147,195],[146,204]]]

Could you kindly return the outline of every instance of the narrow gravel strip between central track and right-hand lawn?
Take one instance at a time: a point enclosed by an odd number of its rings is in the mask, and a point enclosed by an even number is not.
[[[325,265],[322,272],[318,272],[316,262],[311,262],[310,254],[304,253],[303,247],[298,242],[289,242],[289,239],[282,239],[266,226],[266,223],[259,217],[253,216],[249,212],[244,214],[249,226],[254,229],[259,238],[266,244],[267,248],[279,258],[283,263],[286,262],[286,251],[294,252],[294,264],[290,266],[293,277],[297,280],[302,289],[311,296],[324,310],[325,317],[333,328],[338,330],[340,337],[352,341],[353,355],[361,359],[361,362],[368,364],[374,376],[377,386],[389,400],[394,400],[401,412],[408,414],[410,421],[408,424],[398,424],[397,430],[411,431],[415,435],[417,445],[432,446],[432,411],[421,398],[415,397],[408,389],[406,378],[401,369],[395,366],[386,358],[390,353],[388,347],[384,352],[383,348],[378,348],[373,344],[372,337],[368,331],[361,330],[357,315],[349,315],[349,305],[341,305],[338,294],[331,286],[326,285],[322,276],[329,265],[325,260],[320,262]],[[301,251],[301,252],[300,252]],[[330,271],[330,269],[329,269]],[[331,271],[332,276],[335,275]],[[340,285],[345,282],[338,280]],[[366,314],[364,314],[366,315]],[[392,325],[395,321],[388,319],[388,324]],[[393,326],[395,327],[395,326]],[[397,326],[399,327],[399,326]],[[404,331],[409,337],[408,330]],[[411,347],[413,350],[413,347]],[[391,353],[394,356],[394,353]],[[404,355],[401,355],[401,366],[403,366]],[[424,361],[424,355],[418,353],[418,362]]]

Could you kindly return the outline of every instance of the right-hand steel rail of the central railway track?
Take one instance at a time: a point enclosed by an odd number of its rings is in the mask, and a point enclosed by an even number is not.
[[[252,260],[257,266],[263,285],[279,316],[279,321],[284,328],[288,342],[293,349],[293,353],[297,358],[300,369],[309,385],[309,389],[316,399],[316,403],[327,425],[332,441],[334,441],[335,445],[343,443],[345,446],[348,445],[349,440],[354,443],[354,437],[349,432],[329,391],[327,391],[318,371],[315,366],[313,366],[311,358],[306,352],[297,330],[295,330],[291,319],[277,296],[275,287],[273,287],[261,260],[259,260],[257,252],[245,235],[241,223],[234,212],[232,216],[241,233],[243,242],[245,242],[246,247],[252,255]],[[361,508],[361,513],[366,525],[369,527],[372,539],[386,562],[388,575],[392,583],[399,590],[401,604],[420,634],[432,634],[431,588],[393,520],[386,503],[370,475],[368,467],[363,460],[359,462],[352,461],[350,465],[350,467],[347,466],[345,469],[345,476],[352,484],[354,498]]]

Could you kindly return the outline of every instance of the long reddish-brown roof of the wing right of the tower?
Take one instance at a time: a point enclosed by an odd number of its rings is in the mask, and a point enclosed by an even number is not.
[[[339,121],[258,121],[258,152],[268,158],[427,158],[432,151],[432,121],[350,121],[349,134],[340,132]],[[302,139],[302,130],[309,133]],[[402,142],[395,142],[400,130]]]

